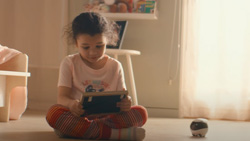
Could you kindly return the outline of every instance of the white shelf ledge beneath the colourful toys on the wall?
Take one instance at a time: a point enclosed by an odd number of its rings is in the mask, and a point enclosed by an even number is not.
[[[158,12],[155,13],[100,13],[110,19],[122,20],[157,20]]]

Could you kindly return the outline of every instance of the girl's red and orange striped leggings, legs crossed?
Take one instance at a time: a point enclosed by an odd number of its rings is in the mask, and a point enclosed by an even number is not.
[[[147,121],[142,106],[132,106],[128,112],[102,117],[76,117],[62,105],[52,106],[46,116],[48,124],[60,134],[81,139],[109,139],[111,129],[141,127]]]

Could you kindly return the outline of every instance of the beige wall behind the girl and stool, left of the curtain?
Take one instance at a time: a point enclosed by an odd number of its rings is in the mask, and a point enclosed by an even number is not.
[[[82,12],[83,4],[86,2],[88,0],[70,0],[70,20]],[[172,85],[168,83],[168,68],[170,67],[173,76],[177,65],[178,32],[176,31],[172,65],[168,66],[175,0],[158,0],[158,2],[158,20],[128,20],[122,48],[141,51],[140,56],[132,57],[139,104],[147,107],[150,116],[178,117],[179,74]],[[177,7],[177,12],[178,10]],[[178,13],[176,16],[175,27],[178,29]],[[130,89],[125,58],[119,58],[123,63],[127,86]]]

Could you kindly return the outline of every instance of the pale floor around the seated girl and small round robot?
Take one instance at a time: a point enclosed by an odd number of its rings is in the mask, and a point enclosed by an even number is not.
[[[145,141],[249,141],[250,122],[209,120],[205,138],[191,136],[192,119],[149,118]],[[27,111],[17,121],[0,122],[0,141],[75,141],[58,138],[44,112]]]

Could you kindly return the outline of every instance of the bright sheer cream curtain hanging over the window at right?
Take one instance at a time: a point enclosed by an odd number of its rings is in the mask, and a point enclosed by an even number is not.
[[[248,0],[184,0],[180,116],[250,120]]]

